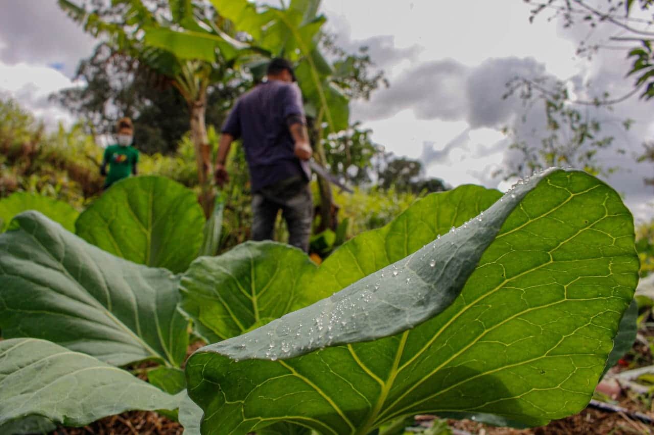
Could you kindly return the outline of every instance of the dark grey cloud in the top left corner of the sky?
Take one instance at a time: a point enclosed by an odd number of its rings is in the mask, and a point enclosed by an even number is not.
[[[5,2],[0,14],[0,61],[9,65],[57,65],[71,76],[94,44],[54,0]]]

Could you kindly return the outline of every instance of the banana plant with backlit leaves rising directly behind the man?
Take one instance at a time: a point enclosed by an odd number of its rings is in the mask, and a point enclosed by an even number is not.
[[[339,72],[320,52],[320,31],[326,21],[318,15],[320,0],[292,0],[288,8],[271,6],[258,7],[247,0],[211,0],[218,14],[232,24],[247,40],[250,55],[241,57],[250,65],[261,64],[266,57],[283,56],[296,63],[296,76],[305,97],[305,111],[312,118],[311,131],[318,163],[326,164],[322,147],[324,134],[337,133],[349,125],[349,99],[337,86]],[[188,42],[194,40],[197,46],[224,44],[225,36],[215,29],[182,29],[154,35],[146,39],[158,46],[175,50],[177,56],[184,56]],[[245,53],[242,51],[242,53]],[[322,125],[327,128],[323,129]],[[322,224],[329,226],[332,191],[327,180],[318,177],[320,186],[320,214]]]

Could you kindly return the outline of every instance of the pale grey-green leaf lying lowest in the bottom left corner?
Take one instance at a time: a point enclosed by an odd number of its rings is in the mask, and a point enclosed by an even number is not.
[[[84,426],[128,410],[176,408],[177,402],[84,353],[33,338],[0,341],[0,433],[25,428],[19,420],[24,417],[31,417],[28,423],[46,417],[61,425]]]

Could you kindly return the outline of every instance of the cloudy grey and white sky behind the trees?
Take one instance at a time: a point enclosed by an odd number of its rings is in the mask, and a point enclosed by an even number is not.
[[[606,4],[606,0],[596,0]],[[0,14],[0,93],[14,96],[49,125],[70,122],[63,108],[47,97],[72,86],[78,61],[90,55],[94,40],[56,6],[55,0],[3,0]],[[451,185],[475,183],[506,189],[511,182],[493,176],[515,163],[502,127],[515,126],[526,139],[538,140],[542,110],[521,117],[517,98],[502,99],[513,76],[590,80],[617,97],[629,91],[623,52],[606,51],[587,63],[574,57],[587,29],[563,29],[538,17],[528,21],[522,0],[323,0],[322,12],[341,46],[370,48],[377,67],[390,80],[371,101],[353,105],[353,118],[373,129],[373,140],[396,155],[421,159],[428,176]],[[443,6],[447,5],[447,6]],[[38,25],[35,25],[38,24]],[[601,37],[601,31],[598,37]],[[573,88],[580,97],[583,89]],[[654,189],[642,179],[653,165],[634,163],[642,142],[654,139],[654,103],[632,98],[597,114],[603,131],[615,136],[615,148],[600,155],[606,166],[623,170],[608,182],[625,195],[640,219],[654,216]],[[621,120],[634,125],[625,132]],[[532,130],[536,129],[536,135]],[[648,205],[648,203],[650,205]]]

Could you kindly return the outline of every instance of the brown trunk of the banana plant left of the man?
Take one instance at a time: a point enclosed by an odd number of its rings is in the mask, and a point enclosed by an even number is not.
[[[207,219],[213,210],[215,193],[211,187],[211,146],[207,137],[205,125],[205,112],[207,110],[207,95],[201,93],[196,101],[189,103],[191,140],[196,148],[196,160],[198,162],[198,181],[200,194],[198,201],[204,210]]]

